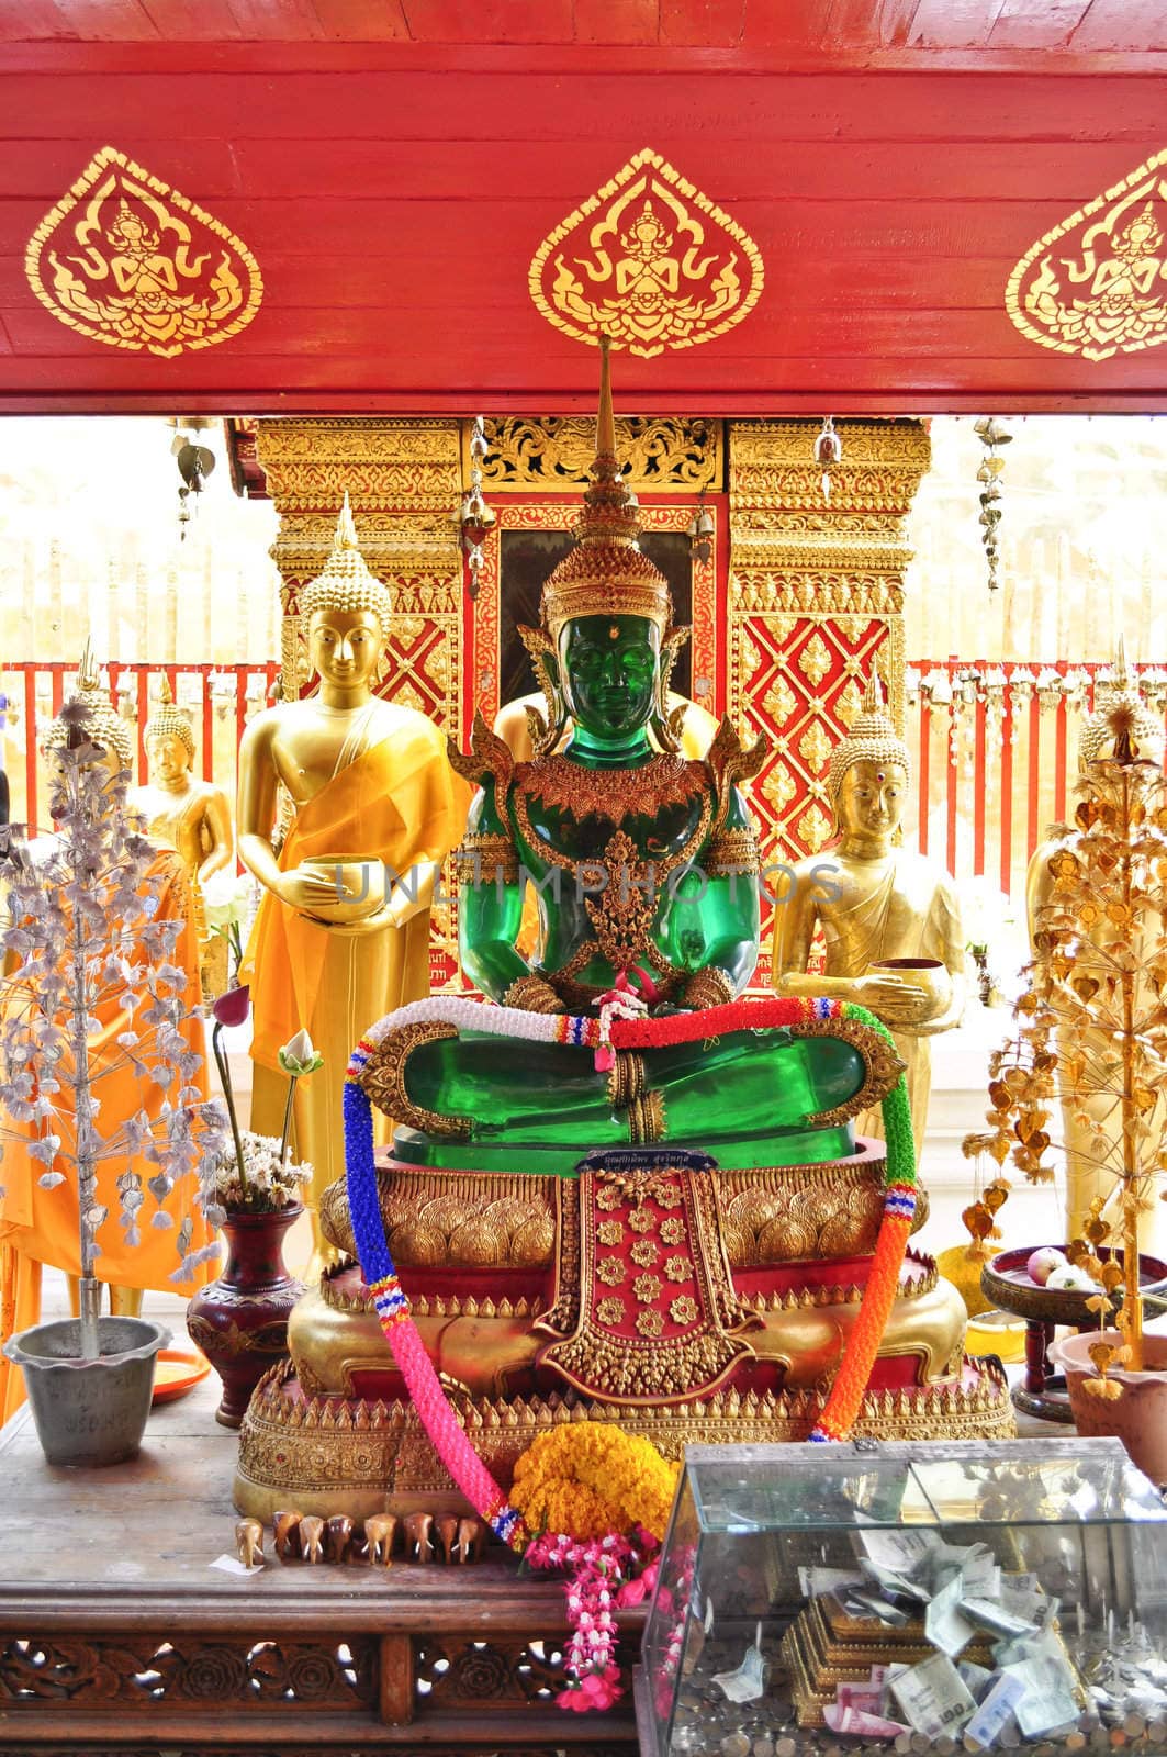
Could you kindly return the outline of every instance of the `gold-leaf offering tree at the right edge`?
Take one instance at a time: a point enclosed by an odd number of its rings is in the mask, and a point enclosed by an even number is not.
[[[1095,1284],[1086,1305],[1100,1325],[1123,1290],[1120,1335],[1088,1344],[1093,1372],[1083,1392],[1095,1402],[1121,1395],[1111,1369],[1148,1365],[1139,1232],[1167,1172],[1158,1121],[1167,1095],[1167,784],[1130,699],[1105,713],[1105,754],[1084,764],[1074,824],[1047,859],[1012,1037],[989,1061],[991,1132],[965,1142],[998,1167],[1012,1161],[1030,1182],[1051,1182],[1049,1124],[1060,1098],[1079,1153],[1084,1144],[1102,1193],[1067,1247],[1063,1274]],[[1121,1246],[1121,1265],[1102,1260],[1107,1240]]]

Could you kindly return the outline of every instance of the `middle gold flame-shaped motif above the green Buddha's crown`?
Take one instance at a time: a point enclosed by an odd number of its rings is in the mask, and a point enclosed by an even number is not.
[[[643,358],[722,336],[763,281],[749,234],[650,148],[543,239],[529,274],[555,329]]]

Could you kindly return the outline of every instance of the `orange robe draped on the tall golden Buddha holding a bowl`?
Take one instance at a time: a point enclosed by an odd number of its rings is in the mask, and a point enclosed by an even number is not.
[[[438,727],[411,713],[299,808],[279,870],[344,856],[383,861],[390,877],[404,877],[418,861],[443,861],[457,847],[469,799]],[[343,1093],[353,1047],[387,1012],[429,994],[429,908],[402,928],[350,935],[265,891],[241,979],[251,986],[253,1061],[278,1070],[281,1045],[301,1028],[323,1056],[320,1072],[295,1086],[295,1151],[313,1167],[318,1205],[344,1172]],[[260,1119],[255,1103],[251,1126],[278,1128],[274,1117]]]

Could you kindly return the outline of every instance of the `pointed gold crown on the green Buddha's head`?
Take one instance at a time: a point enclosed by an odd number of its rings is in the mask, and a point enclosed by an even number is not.
[[[559,640],[564,622],[576,617],[645,617],[661,638],[673,620],[668,580],[640,553],[636,499],[627,488],[615,455],[615,418],[608,376],[608,343],[601,341],[599,416],[596,460],[584,511],[575,527],[575,548],[559,562],[543,587],[543,627]]]

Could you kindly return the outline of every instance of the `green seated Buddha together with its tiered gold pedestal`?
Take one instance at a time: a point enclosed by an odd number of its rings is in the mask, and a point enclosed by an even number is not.
[[[847,1425],[1011,1432],[1004,1383],[963,1358],[958,1293],[905,1251],[923,1207],[889,1033],[842,1001],[738,1000],[761,889],[740,782],[763,752],[728,722],[705,761],[677,750],[682,633],[636,548],[606,395],[578,545],[524,638],[547,696],[533,759],[482,724],[453,756],[480,789],[462,966],[499,1005],[434,996],[353,1052],[348,1181],[320,1209],[348,1260],[299,1302],[290,1360],[257,1388],[237,1506],[464,1509],[406,1399],[397,1318],[503,1483],[554,1421],[619,1420],[671,1457],[808,1437],[877,1290]],[[884,1098],[902,1105],[895,1140],[856,1140],[851,1119]],[[376,1158],[369,1103],[397,1124]]]

